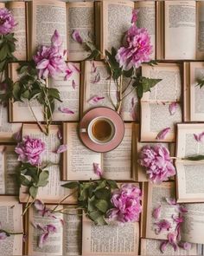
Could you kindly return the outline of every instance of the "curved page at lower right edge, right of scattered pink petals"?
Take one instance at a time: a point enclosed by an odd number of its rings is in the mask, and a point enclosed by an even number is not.
[[[184,215],[182,240],[204,244],[204,204],[185,204],[188,213]]]

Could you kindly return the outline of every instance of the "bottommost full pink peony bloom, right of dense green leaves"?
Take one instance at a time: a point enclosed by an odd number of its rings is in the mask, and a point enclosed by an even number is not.
[[[124,184],[112,194],[112,205],[107,216],[110,220],[134,222],[139,220],[142,212],[140,204],[141,190],[132,184]]]

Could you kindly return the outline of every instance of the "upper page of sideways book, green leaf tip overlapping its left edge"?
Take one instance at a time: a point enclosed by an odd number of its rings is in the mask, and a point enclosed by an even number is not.
[[[150,92],[143,94],[142,102],[179,102],[182,97],[182,70],[179,64],[158,63],[151,67],[144,64],[142,75],[162,79]]]

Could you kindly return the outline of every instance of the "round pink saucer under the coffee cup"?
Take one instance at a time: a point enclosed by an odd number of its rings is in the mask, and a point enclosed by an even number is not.
[[[81,128],[87,128],[90,121],[92,121],[93,118],[96,118],[98,116],[104,116],[112,120],[116,127],[116,134],[113,137],[112,141],[105,143],[104,145],[97,144],[93,142],[87,133],[81,133]],[[123,141],[124,138],[124,121],[118,115],[118,113],[111,108],[105,108],[105,107],[99,107],[99,108],[92,108],[86,114],[82,117],[79,125],[79,135],[80,140],[83,142],[83,144],[95,152],[108,152],[111,151],[114,148],[117,148],[121,141]]]

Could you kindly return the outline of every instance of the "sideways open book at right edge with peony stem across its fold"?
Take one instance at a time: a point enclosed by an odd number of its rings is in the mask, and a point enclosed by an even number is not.
[[[183,158],[204,154],[203,141],[196,136],[204,132],[203,123],[186,123],[177,125],[176,145],[176,189],[178,202],[204,202],[203,161],[188,161]]]

